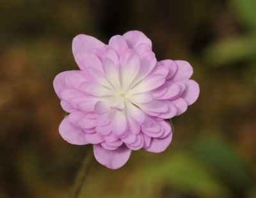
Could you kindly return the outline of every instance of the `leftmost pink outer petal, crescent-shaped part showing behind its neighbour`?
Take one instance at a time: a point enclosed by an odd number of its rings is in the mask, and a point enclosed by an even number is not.
[[[61,72],[58,75],[56,75],[56,77],[53,80],[54,90],[60,99],[61,99],[61,96],[60,96],[61,91],[63,91],[64,89],[67,89],[67,86],[65,83],[65,77],[72,72],[73,71]]]

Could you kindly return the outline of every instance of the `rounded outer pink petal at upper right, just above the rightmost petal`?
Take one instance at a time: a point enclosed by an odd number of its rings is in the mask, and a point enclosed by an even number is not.
[[[187,61],[175,61],[178,66],[177,72],[173,75],[172,80],[188,80],[193,74],[193,68]]]

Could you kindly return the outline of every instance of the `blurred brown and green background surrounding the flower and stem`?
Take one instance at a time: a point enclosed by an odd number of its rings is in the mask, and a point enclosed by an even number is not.
[[[200,96],[163,153],[95,163],[79,197],[256,197],[256,1],[1,1],[0,197],[65,197],[88,146],[65,142],[52,88],[77,70],[71,43],[137,29],[157,60],[194,68]]]

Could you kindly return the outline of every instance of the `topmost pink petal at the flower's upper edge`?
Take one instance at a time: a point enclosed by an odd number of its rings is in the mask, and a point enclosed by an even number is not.
[[[128,31],[123,35],[123,37],[125,38],[129,48],[132,49],[136,48],[141,43],[147,43],[150,47],[152,46],[152,42],[145,34],[141,33],[141,31]]]

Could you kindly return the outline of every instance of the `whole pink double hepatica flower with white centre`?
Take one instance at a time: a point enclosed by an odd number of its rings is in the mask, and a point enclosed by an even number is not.
[[[108,45],[79,34],[72,43],[79,70],[53,82],[70,114],[60,135],[70,144],[93,144],[95,158],[110,169],[122,167],[132,150],[159,153],[172,141],[166,119],[196,101],[199,86],[189,80],[186,61],[157,61],[152,43],[140,31],[113,36]]]

